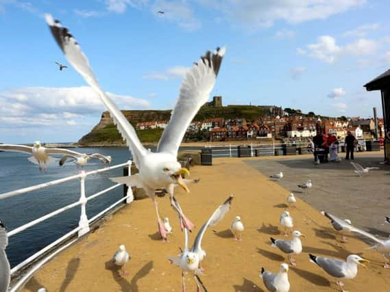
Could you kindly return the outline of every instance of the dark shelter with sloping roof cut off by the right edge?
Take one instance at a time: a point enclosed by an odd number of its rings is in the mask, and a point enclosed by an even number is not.
[[[367,91],[380,90],[382,97],[383,122],[385,125],[385,134],[390,131],[390,70],[369,81],[364,85]],[[390,164],[390,137],[385,137],[385,159]]]

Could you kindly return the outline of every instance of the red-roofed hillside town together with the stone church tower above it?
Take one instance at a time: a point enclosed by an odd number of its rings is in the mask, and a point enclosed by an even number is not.
[[[221,107],[221,96],[215,96],[213,101],[206,103],[207,107]],[[228,105],[229,107],[229,105]],[[308,140],[317,133],[332,133],[338,139],[343,139],[350,131],[357,139],[372,139],[375,135],[374,118],[325,118],[315,116],[313,112],[302,114],[300,109],[282,109],[277,106],[262,106],[268,108],[267,116],[257,120],[245,118],[212,118],[193,121],[187,128],[185,142],[190,141],[229,141],[229,140],[260,140],[298,139]],[[385,135],[382,118],[377,118],[378,137]],[[167,120],[138,122],[136,130],[165,129]]]

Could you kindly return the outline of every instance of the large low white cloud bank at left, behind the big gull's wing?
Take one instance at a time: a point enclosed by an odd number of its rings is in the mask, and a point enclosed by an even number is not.
[[[145,109],[149,101],[106,92],[121,109]],[[20,101],[23,101],[21,103]],[[92,88],[12,88],[0,92],[1,121],[11,126],[80,124],[106,108]],[[73,122],[72,122],[73,121]],[[71,124],[69,124],[69,122]],[[85,122],[84,122],[85,124]]]

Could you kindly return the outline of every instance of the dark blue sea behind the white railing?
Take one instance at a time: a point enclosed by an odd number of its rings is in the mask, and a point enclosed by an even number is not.
[[[187,147],[181,150],[184,149],[193,150],[199,148]],[[125,163],[132,158],[127,147],[73,148],[72,150],[110,155],[112,157],[111,165]],[[151,147],[151,151],[155,150],[155,147]],[[66,163],[60,166],[58,161],[51,163],[46,173],[41,173],[38,170],[38,165],[27,160],[29,156],[31,155],[17,152],[0,152],[0,194],[79,173],[75,164]],[[106,165],[101,163],[101,161],[90,159],[84,170],[88,172],[104,167]],[[114,185],[109,178],[122,175],[123,169],[119,168],[87,176],[86,196],[91,196],[97,193],[97,191]],[[56,209],[76,202],[79,198],[79,179],[6,198],[0,200],[0,220],[10,231]],[[117,187],[98,198],[90,200],[86,204],[88,218],[103,211],[103,209],[106,209],[120,198],[123,198],[123,187]],[[69,231],[78,226],[79,220],[80,206],[77,206],[10,237],[6,253],[11,267],[21,263],[25,258],[69,233]]]

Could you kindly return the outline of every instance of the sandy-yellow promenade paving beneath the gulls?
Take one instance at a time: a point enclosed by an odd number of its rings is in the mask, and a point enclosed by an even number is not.
[[[265,165],[274,163],[263,162],[261,158],[246,160]],[[285,163],[293,162],[286,160]],[[191,174],[202,178],[200,183],[191,186],[191,194],[178,191],[177,197],[197,229],[231,193],[236,195],[230,213],[218,226],[212,227],[217,233],[209,230],[204,237],[207,257],[202,280],[208,291],[266,291],[258,278],[261,267],[278,271],[280,263],[286,261],[279,250],[271,248],[269,237],[282,237],[278,220],[289,190],[269,181],[267,176],[245,163],[245,159],[216,159],[212,167],[196,166]],[[343,177],[335,179],[342,181]],[[167,256],[179,253],[184,237],[168,198],[160,198],[158,202],[162,215],[170,217],[173,223],[174,235],[169,243],[158,239],[151,200],[139,200],[62,252],[38,271],[23,291],[36,292],[39,287],[46,287],[49,292],[181,291],[180,269],[172,266]],[[298,200],[297,209],[291,213],[296,229],[307,236],[303,241],[304,252],[297,256],[297,267],[291,267],[289,272],[291,292],[337,291],[334,279],[309,263],[308,252],[337,258],[363,252],[372,263],[368,269],[359,269],[356,280],[345,281],[345,288],[351,292],[390,291],[390,271],[382,269],[380,254],[365,250],[367,244],[354,238],[341,245],[334,239],[328,220],[302,200]],[[229,230],[236,215],[241,215],[245,224],[241,242],[233,241]],[[191,235],[191,242],[195,234]],[[122,243],[132,256],[127,265],[130,274],[124,278],[118,276],[111,263],[112,255]],[[193,278],[188,275],[187,279],[187,291],[195,291]]]

